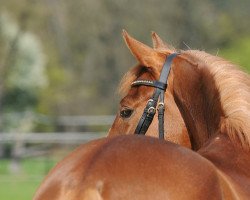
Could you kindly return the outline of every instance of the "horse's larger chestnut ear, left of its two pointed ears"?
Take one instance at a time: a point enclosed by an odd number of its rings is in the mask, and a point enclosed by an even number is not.
[[[155,66],[155,61],[162,57],[153,48],[132,38],[125,30],[123,30],[123,38],[131,53],[140,62],[140,64],[146,67]]]

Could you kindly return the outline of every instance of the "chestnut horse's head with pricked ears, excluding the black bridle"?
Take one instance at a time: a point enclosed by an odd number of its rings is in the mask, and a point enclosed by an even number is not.
[[[134,134],[147,101],[154,89],[147,86],[131,87],[135,80],[158,80],[166,57],[174,50],[165,44],[159,36],[152,34],[154,48],[135,40],[125,31],[123,37],[128,48],[139,64],[132,68],[122,79],[120,85],[120,108],[110,129],[109,135]],[[174,64],[174,63],[173,63]],[[173,97],[173,76],[169,75],[165,92],[165,139],[190,147],[188,132]],[[146,135],[158,137],[158,119],[154,118]]]

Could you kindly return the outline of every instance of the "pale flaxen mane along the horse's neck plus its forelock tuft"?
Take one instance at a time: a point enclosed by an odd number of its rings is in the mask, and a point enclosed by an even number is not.
[[[188,50],[182,54],[192,62],[202,64],[214,79],[225,115],[222,132],[227,133],[232,141],[239,141],[244,149],[250,149],[249,75],[229,61],[204,51]],[[131,82],[136,80],[142,68],[138,65],[125,74],[119,87],[121,96],[127,94]]]

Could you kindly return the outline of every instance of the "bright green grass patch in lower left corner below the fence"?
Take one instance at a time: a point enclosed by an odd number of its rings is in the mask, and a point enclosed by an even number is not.
[[[52,159],[26,159],[20,163],[20,170],[11,173],[10,160],[0,160],[0,199],[32,199],[43,177],[55,165]]]

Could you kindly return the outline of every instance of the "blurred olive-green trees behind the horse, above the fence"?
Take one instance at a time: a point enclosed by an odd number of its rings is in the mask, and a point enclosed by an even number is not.
[[[9,19],[0,25],[0,119],[17,110],[50,116],[113,114],[119,80],[135,63],[122,41],[123,28],[147,44],[154,30],[183,49],[220,49],[230,59],[231,49],[240,64],[247,63],[247,56],[236,55],[246,49],[237,38],[250,32],[248,0],[0,1]],[[14,57],[8,57],[10,49]],[[46,130],[34,123],[28,129]]]

